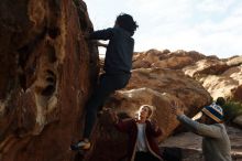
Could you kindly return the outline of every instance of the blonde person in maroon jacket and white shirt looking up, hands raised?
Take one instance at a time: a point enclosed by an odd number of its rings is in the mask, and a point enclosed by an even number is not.
[[[119,119],[116,112],[110,111],[117,129],[129,135],[128,158],[129,161],[161,161],[162,155],[155,138],[162,135],[157,122],[151,122],[150,117],[153,106],[142,105],[139,117]]]

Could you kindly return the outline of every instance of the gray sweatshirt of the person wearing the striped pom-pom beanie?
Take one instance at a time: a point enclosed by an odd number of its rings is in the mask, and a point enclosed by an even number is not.
[[[185,115],[178,116],[177,119],[191,131],[204,137],[202,153],[206,161],[232,161],[230,139],[223,124],[199,124]]]

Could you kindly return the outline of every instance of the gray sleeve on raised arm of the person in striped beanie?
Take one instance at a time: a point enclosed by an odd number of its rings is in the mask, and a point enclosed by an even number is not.
[[[210,138],[220,138],[221,137],[221,130],[220,127],[216,125],[205,125],[199,124],[195,120],[191,120],[186,115],[180,115],[177,117],[177,119],[184,124],[188,129],[190,129],[193,132],[204,136],[204,137],[210,137]]]

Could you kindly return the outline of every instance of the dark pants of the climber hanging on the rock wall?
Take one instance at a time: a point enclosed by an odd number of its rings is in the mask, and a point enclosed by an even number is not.
[[[100,76],[99,84],[95,88],[94,94],[86,106],[84,138],[90,138],[98,110],[113,92],[125,87],[129,83],[130,76],[131,75],[128,73],[102,74]]]

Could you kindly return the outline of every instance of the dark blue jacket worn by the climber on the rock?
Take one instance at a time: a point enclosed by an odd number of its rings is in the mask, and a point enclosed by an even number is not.
[[[128,31],[119,26],[109,28],[95,31],[90,39],[109,40],[103,67],[107,74],[130,73],[134,40]]]

